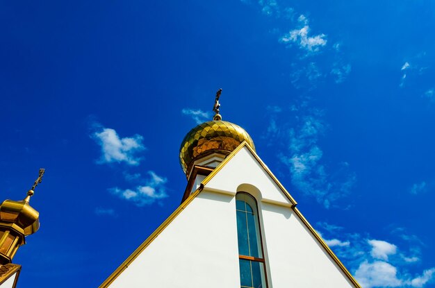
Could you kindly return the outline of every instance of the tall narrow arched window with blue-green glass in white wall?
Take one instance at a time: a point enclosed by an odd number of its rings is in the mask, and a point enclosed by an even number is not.
[[[247,193],[236,194],[238,258],[241,288],[266,288],[258,209]]]

